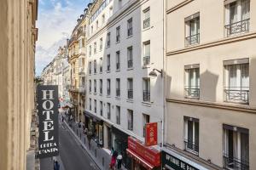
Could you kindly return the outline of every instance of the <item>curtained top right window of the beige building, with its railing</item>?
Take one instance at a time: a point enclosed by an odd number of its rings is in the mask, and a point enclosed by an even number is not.
[[[227,36],[249,31],[250,0],[236,0],[225,4],[225,30]]]

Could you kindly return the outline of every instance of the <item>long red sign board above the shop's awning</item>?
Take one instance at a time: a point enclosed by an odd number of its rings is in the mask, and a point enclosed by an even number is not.
[[[155,167],[160,166],[160,151],[155,150],[154,148],[144,145],[137,139],[132,137],[128,138],[128,149],[132,150],[137,156],[142,157],[145,161],[148,161],[150,164]]]

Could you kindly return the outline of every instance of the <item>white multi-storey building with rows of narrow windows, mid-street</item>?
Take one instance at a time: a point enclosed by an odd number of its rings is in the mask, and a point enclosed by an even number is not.
[[[125,167],[148,168],[126,149],[129,141],[145,145],[148,122],[157,122],[162,142],[163,78],[149,72],[163,68],[163,2],[103,1],[87,35],[85,127],[104,149],[122,153]]]

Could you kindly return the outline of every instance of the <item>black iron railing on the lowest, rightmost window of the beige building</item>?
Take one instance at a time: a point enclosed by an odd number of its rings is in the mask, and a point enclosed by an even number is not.
[[[224,154],[224,168],[234,170],[249,170],[249,161],[237,159],[234,156]]]

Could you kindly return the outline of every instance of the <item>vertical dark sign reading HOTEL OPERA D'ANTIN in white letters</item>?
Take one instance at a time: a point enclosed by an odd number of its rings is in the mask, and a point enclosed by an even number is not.
[[[39,85],[37,93],[39,118],[38,157],[58,156],[58,86]]]

